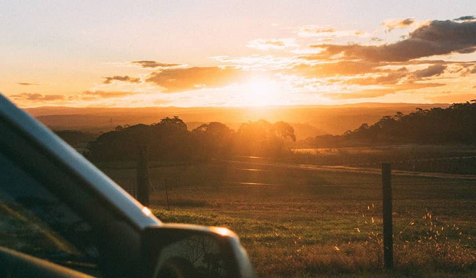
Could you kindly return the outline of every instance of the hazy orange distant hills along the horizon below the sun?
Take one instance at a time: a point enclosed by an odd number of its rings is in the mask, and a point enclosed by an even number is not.
[[[362,123],[376,123],[383,116],[431,109],[449,104],[356,103],[344,105],[271,106],[271,107],[142,107],[142,108],[73,108],[36,107],[25,110],[55,130],[107,132],[116,126],[152,124],[165,117],[179,116],[189,129],[201,123],[221,122],[232,129],[240,123],[264,119],[292,124],[298,139],[319,134],[342,134]]]

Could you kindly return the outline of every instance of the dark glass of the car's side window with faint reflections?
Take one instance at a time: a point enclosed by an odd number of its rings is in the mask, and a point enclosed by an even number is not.
[[[94,230],[0,152],[0,246],[97,274]]]

